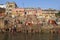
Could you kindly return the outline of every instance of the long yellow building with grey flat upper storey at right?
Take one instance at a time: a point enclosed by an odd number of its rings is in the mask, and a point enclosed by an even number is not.
[[[59,10],[55,10],[55,9],[51,9],[51,8],[42,10],[42,14],[45,17],[45,19],[47,19],[47,20],[49,20],[49,19],[55,20],[56,19],[55,14],[58,12],[59,12]]]

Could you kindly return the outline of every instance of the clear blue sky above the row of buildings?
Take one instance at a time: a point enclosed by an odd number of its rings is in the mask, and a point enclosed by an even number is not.
[[[60,10],[60,0],[0,0],[0,4],[5,4],[7,1],[15,2],[18,7],[42,9],[53,8]]]

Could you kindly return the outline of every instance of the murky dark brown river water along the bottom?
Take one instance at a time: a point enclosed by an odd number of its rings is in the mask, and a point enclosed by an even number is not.
[[[60,34],[54,33],[0,33],[0,40],[60,40]]]

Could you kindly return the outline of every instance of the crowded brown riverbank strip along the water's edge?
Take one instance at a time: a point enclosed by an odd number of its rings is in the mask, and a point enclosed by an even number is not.
[[[0,33],[6,33],[6,32],[10,32],[10,33],[60,33],[60,28],[50,28],[50,29],[46,29],[46,28],[41,28],[40,30],[9,30],[9,29],[5,29],[5,30],[0,30]]]

